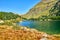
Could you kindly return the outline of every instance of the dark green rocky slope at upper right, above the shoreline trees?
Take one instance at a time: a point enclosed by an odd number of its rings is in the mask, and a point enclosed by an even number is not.
[[[60,0],[50,10],[51,16],[60,16]]]

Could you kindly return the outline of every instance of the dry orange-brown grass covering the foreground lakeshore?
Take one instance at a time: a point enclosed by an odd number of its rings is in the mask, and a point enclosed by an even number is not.
[[[43,32],[23,29],[14,30],[12,28],[9,29],[9,27],[7,25],[0,26],[0,40],[40,40],[43,38]],[[60,40],[50,35],[46,38],[48,40]]]

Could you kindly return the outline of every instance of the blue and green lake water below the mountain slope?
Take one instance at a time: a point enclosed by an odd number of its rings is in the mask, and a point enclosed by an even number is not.
[[[60,21],[23,21],[19,25],[35,28],[50,34],[60,33]]]

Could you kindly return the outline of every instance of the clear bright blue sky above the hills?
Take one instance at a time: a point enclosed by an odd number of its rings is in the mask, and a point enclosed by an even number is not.
[[[0,11],[25,14],[41,0],[0,0]]]

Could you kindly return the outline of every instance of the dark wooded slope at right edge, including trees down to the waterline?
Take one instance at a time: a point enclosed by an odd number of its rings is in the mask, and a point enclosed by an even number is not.
[[[56,2],[56,4],[50,9],[51,19],[60,20],[60,0]]]

